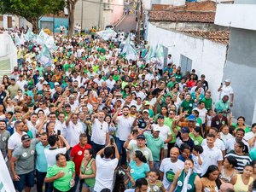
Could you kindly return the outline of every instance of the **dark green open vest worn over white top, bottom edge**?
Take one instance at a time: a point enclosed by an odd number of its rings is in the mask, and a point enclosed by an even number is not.
[[[188,183],[188,192],[195,192],[195,177],[197,176],[197,174],[195,172],[192,172],[190,177],[189,177],[189,183]],[[183,189],[183,182],[184,179],[186,177],[186,173],[183,170],[180,174],[180,176],[177,178],[177,188],[176,188],[176,192],[181,192]]]

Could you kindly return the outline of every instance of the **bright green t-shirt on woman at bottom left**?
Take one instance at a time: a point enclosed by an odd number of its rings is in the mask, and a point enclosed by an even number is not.
[[[65,172],[64,177],[60,177],[54,181],[54,187],[60,191],[68,191],[71,189],[70,181],[73,178],[73,173],[75,172],[75,165],[73,161],[67,161],[67,166],[52,166],[47,170],[46,177],[55,177],[58,172]]]

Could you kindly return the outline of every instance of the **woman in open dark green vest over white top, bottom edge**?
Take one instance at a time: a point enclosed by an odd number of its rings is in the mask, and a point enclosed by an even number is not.
[[[193,160],[185,160],[184,169],[177,171],[173,178],[173,182],[169,192],[201,192],[202,184],[200,177],[193,172],[194,161]],[[175,190],[176,189],[176,190]]]

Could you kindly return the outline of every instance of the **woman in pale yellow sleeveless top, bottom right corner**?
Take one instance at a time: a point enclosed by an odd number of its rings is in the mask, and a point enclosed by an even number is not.
[[[251,183],[253,183],[253,166],[247,164],[244,166],[242,174],[237,174],[234,178],[235,192],[247,192]]]

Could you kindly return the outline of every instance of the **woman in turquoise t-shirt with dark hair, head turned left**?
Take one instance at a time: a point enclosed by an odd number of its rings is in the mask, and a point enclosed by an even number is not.
[[[149,171],[149,166],[143,152],[136,150],[133,153],[131,163],[127,168],[127,175],[130,178],[129,185],[135,186],[136,180],[138,178],[146,177]]]

